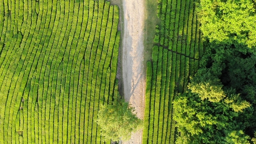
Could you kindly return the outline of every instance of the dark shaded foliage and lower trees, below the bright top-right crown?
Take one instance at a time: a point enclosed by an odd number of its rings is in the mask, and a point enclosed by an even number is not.
[[[205,49],[189,90],[174,101],[176,143],[255,141],[256,52],[237,43],[206,43]]]

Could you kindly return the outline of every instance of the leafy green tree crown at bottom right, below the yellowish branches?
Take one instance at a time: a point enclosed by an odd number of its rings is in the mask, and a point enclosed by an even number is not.
[[[202,101],[197,94],[187,92],[174,100],[174,109],[174,120],[181,132],[177,144],[248,143],[249,136],[240,130],[240,113],[231,110],[224,101]]]

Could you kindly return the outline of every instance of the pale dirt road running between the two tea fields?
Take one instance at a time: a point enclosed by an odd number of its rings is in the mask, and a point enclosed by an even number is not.
[[[144,72],[144,0],[122,0],[122,82],[126,101],[135,107],[138,118],[144,118],[145,72]],[[131,135],[123,144],[141,144],[142,130]]]

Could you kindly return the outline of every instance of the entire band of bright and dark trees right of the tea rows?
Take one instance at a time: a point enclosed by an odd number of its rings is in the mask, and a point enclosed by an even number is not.
[[[174,100],[178,144],[256,143],[256,5],[200,0],[200,68]]]

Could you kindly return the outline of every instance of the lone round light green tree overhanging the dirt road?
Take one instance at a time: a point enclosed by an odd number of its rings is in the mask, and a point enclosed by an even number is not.
[[[131,132],[142,128],[143,121],[137,118],[135,108],[120,97],[112,104],[101,105],[98,111],[97,124],[102,129],[105,140],[129,140]]]

